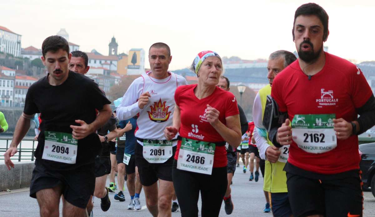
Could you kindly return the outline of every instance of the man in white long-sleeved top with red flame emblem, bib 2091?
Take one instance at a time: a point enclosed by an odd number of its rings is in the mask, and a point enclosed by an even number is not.
[[[117,107],[119,120],[139,115],[135,131],[135,165],[143,185],[146,205],[154,216],[171,216],[174,195],[172,163],[177,135],[165,140],[164,129],[172,125],[174,92],[187,85],[184,77],[168,71],[172,60],[169,46],[154,43],[148,51],[151,71],[133,81]],[[157,186],[159,181],[159,188]]]

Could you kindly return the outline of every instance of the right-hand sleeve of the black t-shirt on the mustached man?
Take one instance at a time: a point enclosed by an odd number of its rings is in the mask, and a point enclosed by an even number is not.
[[[107,99],[97,83],[90,80],[86,90],[89,103],[91,103],[97,110],[102,110],[105,104],[111,104],[111,101]]]

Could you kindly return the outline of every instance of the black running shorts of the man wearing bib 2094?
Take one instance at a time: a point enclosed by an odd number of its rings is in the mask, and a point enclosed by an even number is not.
[[[52,171],[36,159],[30,184],[30,197],[36,198],[38,191],[57,185],[62,186],[62,195],[66,201],[76,207],[86,208],[95,189],[94,163],[73,170]]]

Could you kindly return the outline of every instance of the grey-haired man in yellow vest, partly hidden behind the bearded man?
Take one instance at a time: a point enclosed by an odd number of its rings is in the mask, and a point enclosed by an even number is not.
[[[271,86],[275,77],[288,65],[296,60],[296,56],[289,51],[275,51],[270,54],[267,64],[270,84],[260,89],[255,96],[253,106],[253,118],[256,130],[254,130],[253,138],[259,149],[259,156],[262,159],[263,169],[261,168],[264,177],[263,190],[266,196],[265,212],[272,208],[275,217],[290,216],[291,208],[288,200],[288,190],[286,183],[286,175],[283,168],[285,166],[285,159],[279,159],[281,152],[278,148],[273,146],[272,142],[268,140],[267,132],[263,126],[263,116],[266,107],[267,96],[271,94]],[[287,147],[285,147],[287,148]],[[285,152],[285,150],[283,151]],[[288,153],[283,153],[284,158],[288,158]],[[263,162],[265,164],[263,164]],[[271,204],[271,206],[270,206]]]

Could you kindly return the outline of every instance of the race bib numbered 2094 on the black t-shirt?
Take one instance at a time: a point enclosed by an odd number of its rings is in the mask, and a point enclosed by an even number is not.
[[[77,143],[72,134],[45,131],[45,142],[42,159],[75,164]]]

